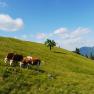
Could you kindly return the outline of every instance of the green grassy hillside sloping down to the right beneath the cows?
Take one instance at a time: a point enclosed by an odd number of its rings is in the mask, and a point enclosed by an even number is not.
[[[4,64],[8,52],[33,55],[37,67]],[[0,37],[0,94],[94,94],[94,61],[64,49]]]

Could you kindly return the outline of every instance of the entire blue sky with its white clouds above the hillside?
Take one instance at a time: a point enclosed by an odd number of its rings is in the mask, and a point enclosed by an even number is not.
[[[94,0],[0,0],[0,36],[75,50],[94,46]]]

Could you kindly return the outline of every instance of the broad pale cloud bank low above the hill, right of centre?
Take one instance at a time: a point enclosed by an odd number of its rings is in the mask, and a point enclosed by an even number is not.
[[[54,39],[58,45],[61,47],[74,50],[76,47],[82,47],[87,45],[92,45],[94,42],[87,41],[85,36],[87,36],[91,30],[89,28],[78,27],[75,30],[68,30],[67,28],[59,28],[49,34],[38,34],[39,39]]]

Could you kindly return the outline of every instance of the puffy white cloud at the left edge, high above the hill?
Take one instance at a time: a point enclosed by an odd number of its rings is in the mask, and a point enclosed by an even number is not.
[[[3,31],[17,31],[23,27],[23,20],[21,18],[13,19],[9,15],[0,14],[0,30]]]

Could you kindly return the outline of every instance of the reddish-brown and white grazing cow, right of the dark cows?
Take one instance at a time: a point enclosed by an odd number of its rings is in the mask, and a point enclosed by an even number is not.
[[[24,65],[40,65],[41,60],[39,58],[35,58],[35,57],[31,57],[31,56],[27,56],[23,58],[22,64]]]

